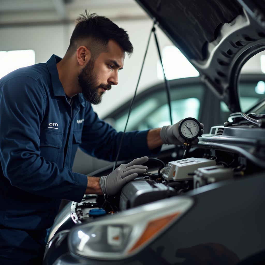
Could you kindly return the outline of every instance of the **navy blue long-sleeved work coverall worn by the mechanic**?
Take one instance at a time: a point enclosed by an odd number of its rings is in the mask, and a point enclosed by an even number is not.
[[[60,60],[52,55],[0,80],[1,264],[41,264],[46,229],[61,199],[80,202],[86,191],[87,176],[72,172],[78,146],[116,158],[122,133],[100,120],[82,94],[69,104],[56,68]],[[126,133],[120,158],[152,155],[147,133]]]

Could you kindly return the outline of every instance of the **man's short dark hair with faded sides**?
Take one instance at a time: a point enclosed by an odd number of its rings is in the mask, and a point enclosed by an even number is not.
[[[97,14],[88,14],[85,10],[76,20],[76,27],[70,38],[70,45],[66,52],[71,56],[79,46],[86,46],[93,58],[101,52],[107,51],[110,40],[116,41],[120,47],[130,56],[133,53],[133,45],[127,32],[119,28],[110,19]]]

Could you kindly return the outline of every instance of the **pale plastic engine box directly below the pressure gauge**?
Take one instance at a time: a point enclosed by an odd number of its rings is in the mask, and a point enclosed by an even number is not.
[[[167,180],[188,180],[192,179],[194,170],[197,170],[199,167],[213,166],[216,165],[215,160],[210,160],[207,158],[195,158],[189,157],[182,160],[171,161],[166,164],[163,177]]]

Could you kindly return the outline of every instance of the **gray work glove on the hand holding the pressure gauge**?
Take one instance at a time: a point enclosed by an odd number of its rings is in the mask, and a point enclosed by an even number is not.
[[[185,139],[182,138],[179,134],[179,124],[180,122],[182,122],[182,120],[180,120],[178,123],[175,123],[173,125],[168,125],[168,126],[163,126],[161,128],[160,131],[160,137],[161,140],[164,144],[178,144],[178,145],[182,145],[183,143],[185,143]],[[200,135],[202,135],[204,133],[203,131],[203,127],[204,125],[200,122],[201,125],[201,133]],[[197,144],[199,142],[199,139],[193,139],[192,140],[192,144]]]

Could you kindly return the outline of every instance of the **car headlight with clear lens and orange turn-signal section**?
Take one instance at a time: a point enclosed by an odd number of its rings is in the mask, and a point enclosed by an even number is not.
[[[190,197],[172,197],[75,227],[70,251],[96,259],[127,258],[153,241],[193,204]]]

